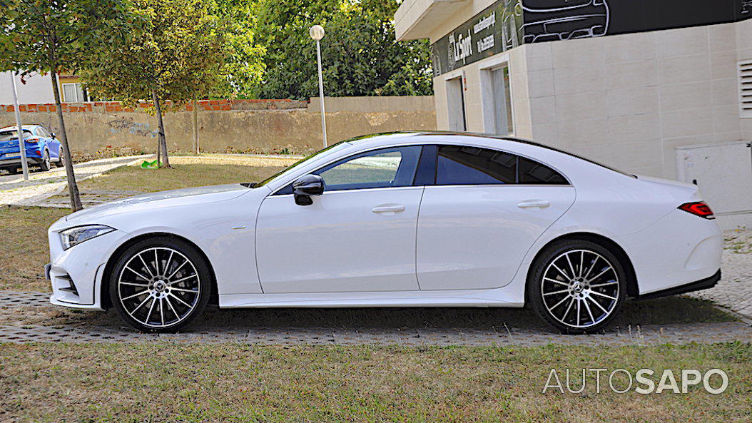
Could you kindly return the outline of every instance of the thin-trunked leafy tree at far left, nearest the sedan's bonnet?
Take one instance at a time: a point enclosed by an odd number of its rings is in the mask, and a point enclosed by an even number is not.
[[[2,70],[50,74],[71,209],[80,210],[57,75],[76,71],[102,46],[123,40],[134,22],[126,0],[0,0],[0,11]]]

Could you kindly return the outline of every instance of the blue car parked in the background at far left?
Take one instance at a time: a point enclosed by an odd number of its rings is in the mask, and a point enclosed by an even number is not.
[[[38,166],[41,171],[49,171],[53,163],[64,165],[60,141],[55,133],[50,133],[42,125],[23,125],[23,140],[26,147],[26,162]],[[21,169],[21,155],[18,148],[18,127],[0,128],[0,170],[17,174]]]

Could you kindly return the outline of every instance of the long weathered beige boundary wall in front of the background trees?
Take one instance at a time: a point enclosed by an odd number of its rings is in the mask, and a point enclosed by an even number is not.
[[[329,144],[383,131],[435,129],[431,97],[326,98]],[[148,104],[135,110],[117,102],[63,104],[71,151],[77,156],[150,152],[156,148],[156,118]],[[0,105],[0,122],[14,122],[14,108]],[[53,104],[20,106],[23,122],[58,131]],[[193,151],[190,104],[165,114],[171,151]],[[318,99],[212,100],[199,102],[202,152],[309,153],[323,147]]]

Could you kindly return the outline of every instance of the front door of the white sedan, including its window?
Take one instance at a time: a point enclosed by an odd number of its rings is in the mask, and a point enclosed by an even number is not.
[[[415,231],[421,147],[350,156],[313,172],[323,195],[300,206],[289,187],[262,202],[256,261],[265,293],[418,289]]]

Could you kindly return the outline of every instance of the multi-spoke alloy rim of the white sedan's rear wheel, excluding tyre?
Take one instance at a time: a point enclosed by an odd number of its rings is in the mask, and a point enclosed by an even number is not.
[[[547,313],[569,328],[590,328],[614,313],[620,296],[614,265],[589,249],[556,256],[541,279]]]

